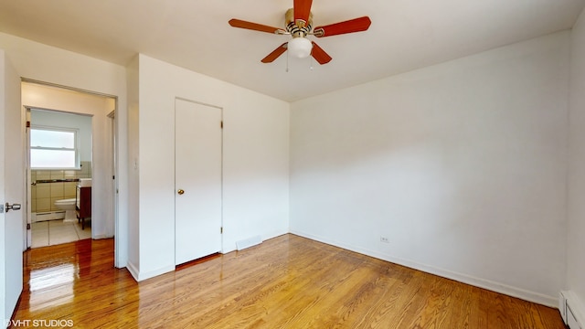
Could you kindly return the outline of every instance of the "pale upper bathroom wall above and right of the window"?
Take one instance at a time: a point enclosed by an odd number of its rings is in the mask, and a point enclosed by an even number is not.
[[[58,109],[55,109],[58,110]],[[30,122],[46,127],[78,130],[80,161],[91,161],[91,117],[58,111],[31,110]]]

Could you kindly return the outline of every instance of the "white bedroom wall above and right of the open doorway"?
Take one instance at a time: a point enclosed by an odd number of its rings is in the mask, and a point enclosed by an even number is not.
[[[90,58],[74,52],[54,48],[21,37],[0,33],[0,48],[11,59],[18,74],[30,80],[50,82],[80,90],[90,90],[117,97],[118,122],[118,175],[120,193],[119,226],[117,236],[116,266],[124,267],[127,259],[127,204],[128,204],[128,162],[127,107],[125,68],[106,61]]]

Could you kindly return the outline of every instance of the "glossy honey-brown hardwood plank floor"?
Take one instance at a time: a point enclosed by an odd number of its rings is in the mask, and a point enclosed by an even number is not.
[[[15,320],[75,328],[564,328],[558,310],[294,235],[140,283],[113,268],[112,255],[112,239],[28,250]]]

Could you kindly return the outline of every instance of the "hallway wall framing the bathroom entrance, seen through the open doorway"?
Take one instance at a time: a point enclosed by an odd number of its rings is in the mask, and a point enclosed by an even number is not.
[[[34,83],[23,83],[22,103],[27,107],[68,111],[91,117],[91,237],[111,238],[114,233],[112,150],[107,115],[112,99],[77,91],[61,90]],[[90,133],[91,133],[90,132]]]

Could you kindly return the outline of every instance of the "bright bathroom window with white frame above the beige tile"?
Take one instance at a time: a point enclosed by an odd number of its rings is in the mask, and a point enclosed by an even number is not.
[[[32,169],[80,169],[77,129],[30,128]]]

